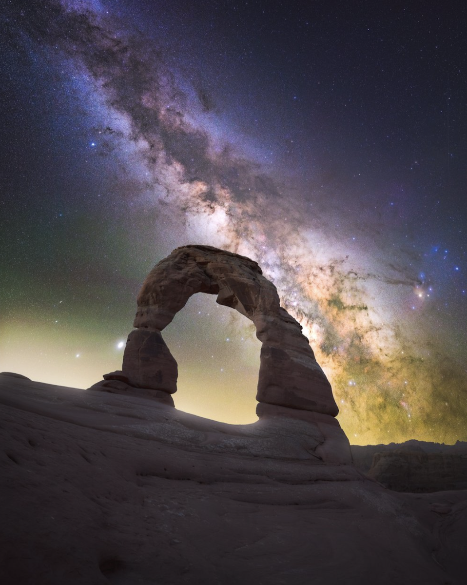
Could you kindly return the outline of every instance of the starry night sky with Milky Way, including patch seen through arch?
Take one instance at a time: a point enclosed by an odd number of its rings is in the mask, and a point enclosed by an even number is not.
[[[4,3],[5,4],[5,3]],[[467,440],[465,2],[2,8],[0,370],[86,388],[177,246],[256,260],[352,443]],[[164,330],[176,407],[253,422],[260,342]]]

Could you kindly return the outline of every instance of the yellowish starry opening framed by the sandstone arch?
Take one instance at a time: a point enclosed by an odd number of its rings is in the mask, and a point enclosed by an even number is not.
[[[178,364],[176,408],[229,424],[257,420],[261,342],[252,321],[195,294],[163,336]]]

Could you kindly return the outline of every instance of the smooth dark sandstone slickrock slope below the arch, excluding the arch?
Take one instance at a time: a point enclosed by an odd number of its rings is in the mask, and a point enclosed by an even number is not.
[[[0,376],[8,585],[463,585],[467,491],[308,457],[306,422]],[[294,426],[295,425],[295,426]]]

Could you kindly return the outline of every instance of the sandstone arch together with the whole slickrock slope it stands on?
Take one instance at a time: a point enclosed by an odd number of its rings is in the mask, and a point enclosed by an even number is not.
[[[188,298],[253,321],[257,414],[174,408],[162,333]],[[400,494],[352,464],[331,386],[248,258],[174,250],[146,278],[122,370],[88,390],[0,375],[0,582],[462,585],[467,491]]]

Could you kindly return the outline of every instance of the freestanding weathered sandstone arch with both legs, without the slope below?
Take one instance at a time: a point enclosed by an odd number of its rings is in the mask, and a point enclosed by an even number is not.
[[[301,325],[282,307],[276,287],[258,264],[211,246],[178,247],[147,275],[138,295],[133,330],[121,371],[104,374],[92,390],[152,397],[174,405],[177,362],[163,329],[197,292],[248,317],[262,342],[256,399],[260,419],[299,419],[314,425],[320,458],[351,461],[348,439],[335,416],[331,384],[315,360]]]

